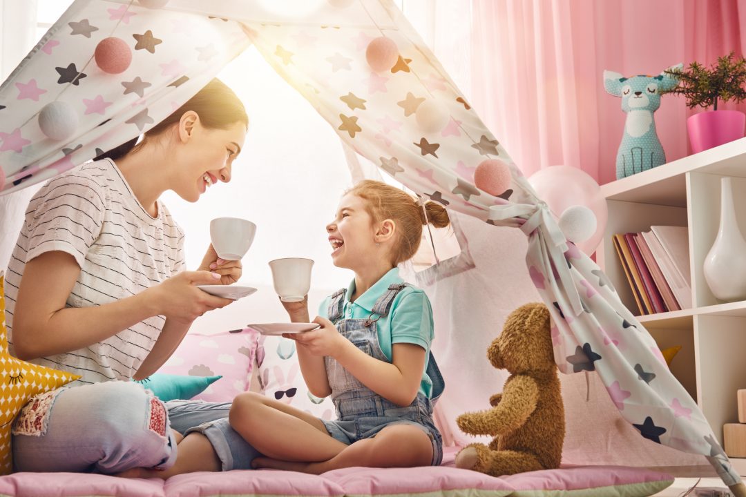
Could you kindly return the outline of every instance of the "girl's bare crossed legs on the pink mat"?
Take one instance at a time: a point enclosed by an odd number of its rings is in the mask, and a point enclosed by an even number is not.
[[[350,445],[333,438],[319,418],[259,393],[233,399],[231,426],[265,458],[252,466],[319,475],[351,466],[430,466],[433,443],[412,424],[389,424]]]

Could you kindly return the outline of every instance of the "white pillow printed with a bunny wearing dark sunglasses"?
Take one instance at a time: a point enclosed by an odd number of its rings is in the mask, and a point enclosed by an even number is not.
[[[295,341],[261,335],[257,346],[257,375],[262,393],[270,399],[306,411],[322,420],[336,417],[329,397],[319,399],[303,381]]]

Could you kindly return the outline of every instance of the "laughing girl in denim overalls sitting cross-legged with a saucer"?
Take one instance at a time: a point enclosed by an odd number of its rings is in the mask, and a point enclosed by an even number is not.
[[[416,253],[422,226],[448,226],[442,206],[363,181],[327,226],[334,265],[355,279],[322,303],[320,329],[286,335],[311,393],[331,396],[338,420],[319,420],[256,393],[233,400],[233,428],[266,458],[254,467],[322,473],[348,466],[427,466],[442,459],[433,401],[443,382],[432,355],[433,313],[397,265]],[[283,303],[308,322],[307,301]]]

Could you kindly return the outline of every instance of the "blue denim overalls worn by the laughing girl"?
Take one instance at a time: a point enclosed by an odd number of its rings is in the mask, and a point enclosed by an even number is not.
[[[396,295],[406,284],[389,286],[386,294],[380,297],[373,307],[368,319],[343,319],[345,291],[342,288],[332,295],[327,310],[339,333],[355,344],[359,349],[380,361],[389,362],[378,343],[377,320],[389,314]],[[378,317],[374,317],[376,314]],[[443,440],[438,428],[433,424],[433,405],[443,392],[445,382],[438,366],[430,353],[427,361],[427,376],[433,382],[432,399],[422,393],[407,407],[390,402],[360,383],[333,358],[325,357],[327,378],[331,387],[331,399],[336,407],[337,420],[324,421],[327,431],[336,440],[351,444],[357,440],[372,438],[375,434],[392,424],[410,424],[421,428],[433,444],[432,465],[438,466],[443,457]]]

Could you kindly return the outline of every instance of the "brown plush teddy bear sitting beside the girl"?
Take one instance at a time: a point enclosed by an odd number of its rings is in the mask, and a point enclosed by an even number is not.
[[[494,438],[466,446],[456,466],[492,476],[560,467],[565,408],[546,306],[528,303],[510,313],[487,358],[510,372],[503,393],[490,397],[491,409],[462,414],[457,423],[467,434]]]

